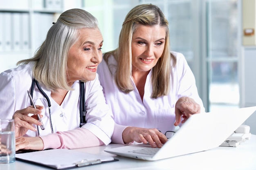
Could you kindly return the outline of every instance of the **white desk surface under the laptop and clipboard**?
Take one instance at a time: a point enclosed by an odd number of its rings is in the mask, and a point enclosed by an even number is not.
[[[220,146],[212,150],[163,159],[143,161],[119,157],[104,152],[105,148],[115,148],[120,144],[76,149],[83,152],[113,156],[119,161],[94,166],[74,168],[77,170],[256,170],[256,135],[238,147]],[[182,149],[182,148],[181,148]],[[0,164],[0,170],[50,170],[43,166],[21,161]]]

